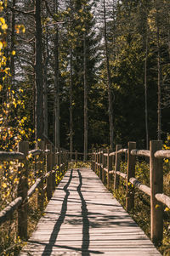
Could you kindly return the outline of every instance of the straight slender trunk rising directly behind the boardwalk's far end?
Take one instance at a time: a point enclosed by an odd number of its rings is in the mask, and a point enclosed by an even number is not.
[[[88,159],[88,82],[87,82],[87,45],[86,32],[84,32],[83,40],[84,48],[84,162]]]

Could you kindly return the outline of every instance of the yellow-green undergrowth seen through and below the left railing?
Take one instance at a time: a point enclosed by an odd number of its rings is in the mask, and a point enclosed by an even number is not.
[[[56,167],[56,185],[59,185],[60,180],[63,178],[65,174],[65,170],[60,171],[58,167]],[[30,165],[30,175],[32,172],[34,172],[33,169],[31,169]],[[32,181],[31,176],[31,183],[30,186],[34,181]],[[44,184],[45,185],[45,184]],[[13,197],[16,197],[16,188],[14,189],[15,194],[13,193]],[[2,195],[3,188],[0,187],[0,193]],[[43,211],[40,211],[37,208],[37,193],[38,191],[35,191],[34,194],[29,199],[29,205],[28,205],[28,237],[31,236],[33,230],[35,230],[35,227],[37,225],[38,220],[42,217]],[[13,200],[14,200],[13,198]],[[8,205],[8,202],[12,201],[12,198],[8,195],[8,198],[6,198],[6,203],[3,203],[2,196],[0,198],[0,205],[2,210],[6,205]],[[43,204],[43,210],[47,207],[48,199],[47,196],[44,196],[44,204]],[[11,215],[10,219],[3,223],[3,225],[0,226],[0,256],[15,256],[18,255],[20,252],[21,247],[25,246],[26,242],[21,241],[20,237],[17,236],[17,213],[16,211],[14,214]]]

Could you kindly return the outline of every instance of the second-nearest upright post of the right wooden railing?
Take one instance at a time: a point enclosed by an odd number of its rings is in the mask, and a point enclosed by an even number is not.
[[[128,142],[127,150],[127,196],[126,209],[129,212],[134,207],[134,187],[129,184],[129,179],[135,177],[136,156],[131,155],[131,151],[136,149],[136,142]]]

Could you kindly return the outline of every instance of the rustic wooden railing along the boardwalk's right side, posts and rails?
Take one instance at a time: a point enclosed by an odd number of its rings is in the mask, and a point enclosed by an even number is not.
[[[116,151],[93,151],[92,169],[99,173],[100,179],[111,187],[111,175],[114,176],[113,190],[122,177],[127,181],[126,208],[134,207],[134,187],[150,196],[150,236],[154,243],[161,242],[163,236],[163,204],[170,208],[170,196],[163,193],[163,159],[170,158],[169,150],[161,150],[161,141],[150,141],[150,151],[137,150],[135,142],[128,142],[127,149],[116,145]],[[127,174],[120,171],[121,156],[127,159]],[[135,179],[136,156],[150,158],[150,187]],[[132,184],[132,185],[131,185]]]

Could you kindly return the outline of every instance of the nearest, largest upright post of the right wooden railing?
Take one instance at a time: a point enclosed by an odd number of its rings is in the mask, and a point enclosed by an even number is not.
[[[162,141],[150,141],[150,236],[154,243],[161,242],[163,236],[163,210],[161,202],[157,202],[156,193],[163,191],[163,160],[154,156],[161,150]]]

